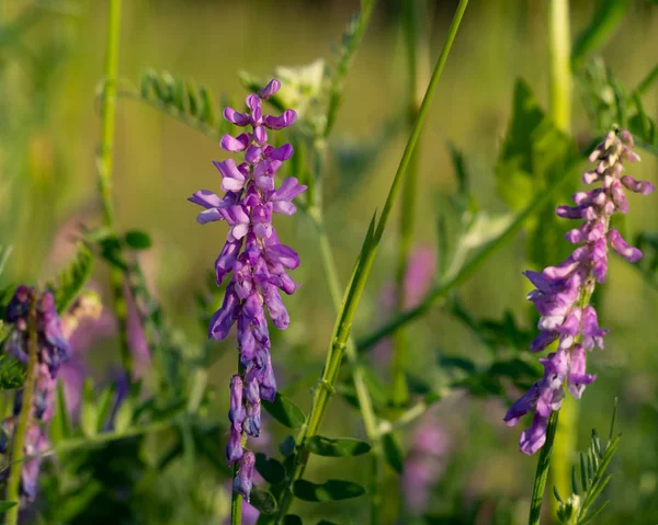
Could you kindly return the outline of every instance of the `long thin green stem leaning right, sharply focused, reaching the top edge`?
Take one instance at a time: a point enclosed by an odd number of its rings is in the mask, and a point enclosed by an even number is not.
[[[375,259],[375,254],[377,251],[377,244],[382,240],[384,235],[384,230],[386,229],[386,224],[388,221],[388,217],[390,215],[393,205],[397,199],[397,195],[400,191],[400,185],[402,183],[405,173],[409,166],[409,161],[413,153],[413,149],[416,148],[416,144],[418,142],[418,138],[420,136],[422,124],[424,118],[429,112],[430,104],[434,92],[436,90],[436,85],[439,83],[439,79],[441,78],[441,73],[443,72],[443,67],[445,66],[445,61],[447,60],[447,56],[450,54],[450,49],[457,34],[457,30],[460,27],[460,23],[464,15],[464,11],[466,10],[466,5],[468,4],[468,0],[461,0],[457,5],[457,10],[453,18],[452,24],[449,30],[449,34],[441,50],[441,55],[436,61],[436,66],[432,73],[432,78],[430,79],[430,83],[428,85],[427,92],[424,94],[422,104],[420,106],[420,111],[418,113],[418,118],[413,125],[413,129],[409,136],[407,147],[405,148],[405,152],[402,153],[402,158],[400,159],[400,163],[398,166],[395,179],[390,186],[388,197],[382,210],[382,216],[379,221],[377,222],[376,229],[373,233],[371,240],[371,247],[368,250],[365,250],[363,254],[363,260],[360,260],[358,263],[359,271],[356,272],[356,276],[353,277],[348,292],[344,295],[343,303],[341,305],[341,309],[339,316],[337,318],[337,322],[333,329],[333,336],[331,339],[331,343],[328,350],[328,362],[322,370],[322,375],[318,385],[314,391],[313,404],[310,409],[310,413],[308,420],[304,427],[299,431],[299,435],[297,436],[297,445],[298,447],[298,457],[296,458],[296,468],[291,477],[290,483],[286,486],[284,490],[284,494],[281,501],[277,520],[276,523],[281,523],[283,516],[287,512],[290,504],[293,500],[292,495],[292,487],[294,482],[304,473],[306,463],[308,461],[308,453],[303,447],[304,442],[308,436],[314,435],[327,411],[327,407],[329,403],[329,399],[333,389],[336,387],[336,383],[338,380],[338,375],[341,366],[341,362],[345,352],[348,354],[354,353],[355,349],[352,346],[352,351],[350,349],[350,334],[352,322],[354,319],[354,315],[356,312],[356,307],[359,306],[360,297],[363,293],[363,288],[365,286],[365,281],[372,267],[372,264]],[[338,295],[338,294],[337,294]]]

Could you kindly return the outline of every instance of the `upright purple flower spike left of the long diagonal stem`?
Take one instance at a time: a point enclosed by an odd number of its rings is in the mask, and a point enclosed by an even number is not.
[[[282,163],[293,155],[293,147],[279,148],[268,144],[268,132],[292,125],[297,114],[286,110],[280,116],[263,115],[262,100],[281,88],[272,80],[259,93],[247,96],[247,113],[226,107],[224,117],[251,130],[237,137],[225,135],[222,147],[230,152],[245,152],[245,162],[232,159],[214,162],[222,174],[219,197],[209,191],[198,191],[189,199],[206,208],[197,217],[200,224],[226,220],[229,226],[224,249],[215,262],[217,285],[232,273],[226,287],[222,308],[211,319],[208,336],[224,340],[237,323],[241,373],[230,380],[230,438],[226,449],[228,463],[239,461],[234,489],[249,499],[254,457],[243,448],[243,435],[258,437],[261,429],[261,399],[273,401],[276,383],[270,357],[270,334],[264,307],[270,319],[281,330],[290,317],[280,290],[293,294],[297,288],[287,274],[299,265],[297,253],[279,242],[272,226],[272,214],[293,215],[293,198],[306,190],[297,179],[285,179],[275,187],[274,176]]]

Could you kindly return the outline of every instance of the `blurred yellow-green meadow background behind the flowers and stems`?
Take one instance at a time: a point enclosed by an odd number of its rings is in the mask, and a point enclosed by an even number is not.
[[[525,79],[544,107],[547,105],[545,3],[472,1],[422,135],[418,246],[435,246],[439,196],[456,189],[449,142],[465,153],[480,206],[491,213],[506,210],[497,196],[494,167],[510,118],[515,81]],[[571,3],[576,34],[590,20],[594,2]],[[1,26],[21,22],[30,5],[24,0],[0,2]],[[431,3],[432,59],[455,5]],[[77,225],[101,222],[94,155],[100,134],[97,93],[103,76],[106,2],[49,2],[44,9],[46,15],[22,21],[25,25],[16,30],[20,37],[12,37],[10,31],[0,33],[0,242],[14,247],[9,261],[13,281],[50,277],[72,253],[69,239]],[[137,83],[147,67],[169,70],[239,100],[246,94],[238,78],[241,70],[266,77],[277,66],[330,59],[332,45],[358,9],[359,2],[348,0],[125,1],[120,77]],[[385,129],[399,121],[396,116],[407,100],[400,20],[400,2],[378,3],[347,78],[344,103],[330,142],[343,157],[379,146],[364,172],[352,173],[333,155],[326,173],[328,231],[343,281],[373,210],[383,205],[406,141],[405,125]],[[602,56],[619,79],[635,85],[654,67],[656,49],[658,9],[635,2]],[[656,87],[644,101],[647,114],[658,116]],[[593,136],[578,89],[572,129],[581,146]],[[378,144],[382,134],[388,139]],[[206,273],[213,269],[225,226],[198,226],[196,209],[186,197],[198,189],[219,191],[211,161],[223,156],[217,144],[175,119],[139,101],[120,99],[114,175],[117,221],[121,228],[151,233],[155,246],[143,263],[152,292],[188,338],[197,342],[204,333],[194,313],[194,293],[204,286]],[[632,174],[656,183],[657,167],[657,159],[644,153],[643,162],[632,167]],[[569,197],[566,193],[563,196],[565,202]],[[631,198],[631,232],[656,231],[656,203],[655,195]],[[394,278],[395,267],[397,224],[394,220],[390,225],[358,315],[358,335],[383,322],[378,297],[382,287]],[[273,359],[282,387],[307,409],[308,389],[324,363],[333,312],[307,218],[298,214],[292,220],[281,220],[277,229],[300,253],[303,263],[295,279],[303,287],[286,299],[293,322],[280,338],[281,350],[273,349]],[[523,239],[519,237],[463,286],[462,297],[469,311],[500,319],[511,309],[526,318],[523,261]],[[97,265],[93,281],[109,298],[102,263]],[[656,520],[634,521],[634,512],[643,505],[658,512],[658,293],[617,260],[611,264],[604,288],[599,298],[600,320],[611,334],[605,351],[597,352],[589,362],[599,378],[580,402],[579,445],[586,446],[591,427],[602,433],[606,430],[613,399],[619,397],[617,427],[623,440],[613,466],[613,511],[606,512],[601,523],[648,524]],[[468,330],[439,309],[415,322],[409,333],[415,372],[430,381],[435,373],[426,370],[435,362],[438,350],[475,359],[486,355]],[[230,342],[216,344],[216,349],[226,354],[211,375],[217,389],[217,411],[223,416],[235,355]],[[104,365],[118,364],[114,345],[103,344],[94,358]],[[519,430],[507,429],[501,421],[506,409],[500,401],[466,395],[440,406],[438,420],[452,442],[445,460],[456,467],[449,468],[445,476],[450,478],[442,481],[434,503],[457,491],[464,501],[487,494],[492,501],[509,499],[517,515],[525,515],[536,463],[518,452]],[[338,397],[324,429],[332,435],[362,432],[356,414]],[[271,432],[283,436],[274,425]],[[308,476],[321,471],[327,477],[327,472],[344,469],[353,470],[352,476],[360,479],[363,464],[359,459],[337,464],[314,458]],[[321,514],[317,506],[297,505]],[[345,515],[354,512],[349,509],[363,506],[356,501],[332,512]],[[353,523],[361,523],[354,516]],[[487,521],[486,512],[483,516],[478,523],[494,523]]]

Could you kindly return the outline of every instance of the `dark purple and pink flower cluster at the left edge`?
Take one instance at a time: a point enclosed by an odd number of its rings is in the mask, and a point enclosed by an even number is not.
[[[37,295],[33,287],[23,285],[19,286],[7,306],[7,321],[13,326],[7,349],[19,361],[27,362],[27,324],[30,307],[33,301],[36,301],[37,363],[34,370],[35,385],[30,409],[31,419],[23,445],[25,457],[36,456],[49,447],[48,438],[39,423],[48,421],[53,415],[52,397],[57,383],[57,373],[61,363],[70,357],[70,346],[63,334],[53,294],[44,292]],[[23,391],[19,390],[14,398],[13,415],[2,422],[7,435],[12,435],[15,430],[22,400]],[[3,436],[0,443],[0,453],[7,453],[8,448],[9,441]],[[21,501],[23,504],[34,501],[39,466],[39,459],[26,461],[22,466]]]

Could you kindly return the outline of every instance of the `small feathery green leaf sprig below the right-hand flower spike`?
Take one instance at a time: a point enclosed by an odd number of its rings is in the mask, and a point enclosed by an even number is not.
[[[597,509],[591,510],[597,502],[603,489],[612,479],[612,475],[606,475],[608,467],[617,450],[621,434],[612,437],[614,433],[614,421],[616,415],[616,400],[610,424],[610,435],[605,447],[601,446],[601,437],[595,430],[592,430],[590,445],[585,454],[580,453],[579,466],[571,469],[571,490],[572,494],[564,501],[557,489],[553,491],[558,502],[557,517],[560,523],[582,525],[594,520],[610,501],[605,501]]]

